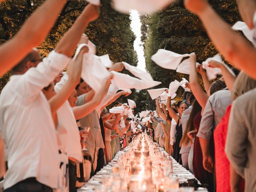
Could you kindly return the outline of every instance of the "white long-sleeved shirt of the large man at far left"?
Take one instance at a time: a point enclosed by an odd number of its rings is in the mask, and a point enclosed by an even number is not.
[[[0,128],[6,144],[8,170],[4,188],[35,177],[58,187],[58,145],[50,105],[42,93],[70,58],[52,51],[36,68],[13,75],[0,95]]]

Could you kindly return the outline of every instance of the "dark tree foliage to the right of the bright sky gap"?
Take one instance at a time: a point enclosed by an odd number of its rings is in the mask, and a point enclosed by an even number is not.
[[[235,0],[210,0],[213,8],[230,24],[241,20]],[[163,69],[156,65],[150,58],[158,49],[166,49],[179,54],[195,52],[197,61],[218,53],[213,43],[208,38],[199,18],[186,10],[183,0],[176,0],[165,10],[147,16],[142,28],[142,41],[145,42],[146,68],[156,81],[161,81],[157,88],[166,87],[175,79],[181,80],[187,75],[176,73],[174,70]],[[148,25],[148,29],[144,26]],[[148,36],[148,38],[147,38]],[[145,40],[146,39],[146,40]],[[181,98],[183,89],[178,90]],[[154,108],[154,101],[148,96],[150,108]]]

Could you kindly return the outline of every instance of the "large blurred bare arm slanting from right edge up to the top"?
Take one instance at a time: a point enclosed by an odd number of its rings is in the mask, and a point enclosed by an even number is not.
[[[256,65],[253,62],[256,60],[255,48],[232,30],[206,0],[184,0],[184,3],[202,20],[208,36],[226,60],[256,79]]]

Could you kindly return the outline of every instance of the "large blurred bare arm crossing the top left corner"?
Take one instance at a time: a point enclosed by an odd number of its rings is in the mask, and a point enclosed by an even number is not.
[[[66,0],[44,2],[26,20],[16,35],[0,46],[0,76],[18,64],[33,47],[38,46],[44,40],[65,2]]]

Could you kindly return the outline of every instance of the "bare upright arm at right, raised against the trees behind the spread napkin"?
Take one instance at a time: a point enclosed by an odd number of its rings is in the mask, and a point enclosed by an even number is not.
[[[196,100],[202,106],[202,108],[205,108],[206,102],[209,98],[209,96],[202,90],[197,72],[196,72],[196,54],[191,54],[190,56],[190,75],[189,75],[189,84],[192,93],[194,94]]]

